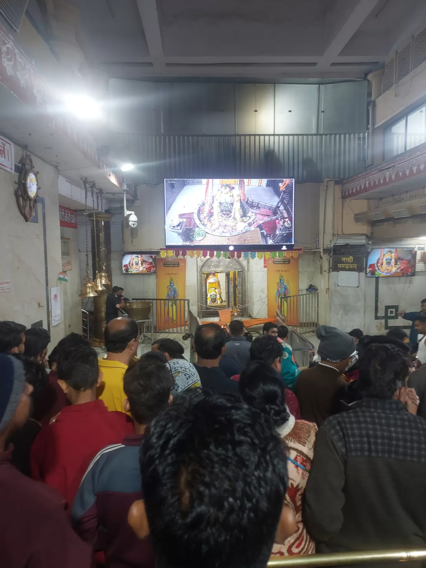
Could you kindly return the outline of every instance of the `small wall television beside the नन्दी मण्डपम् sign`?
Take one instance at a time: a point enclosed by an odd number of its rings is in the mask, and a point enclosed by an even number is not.
[[[373,249],[368,255],[367,276],[414,276],[416,251],[404,248]]]

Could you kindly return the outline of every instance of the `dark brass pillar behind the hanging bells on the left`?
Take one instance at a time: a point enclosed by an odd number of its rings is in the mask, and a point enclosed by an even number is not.
[[[96,277],[96,271],[102,272],[105,265],[105,272],[108,274],[108,280],[112,282],[111,274],[111,228],[110,221],[112,215],[108,213],[89,213],[87,218],[90,221],[91,235],[91,259],[93,278]],[[95,231],[97,246],[95,247]],[[96,250],[98,256],[96,256]],[[106,297],[111,293],[112,287],[104,284],[105,290],[98,292],[93,298],[94,311],[94,329],[92,345],[99,347],[104,344],[103,333],[106,327]]]

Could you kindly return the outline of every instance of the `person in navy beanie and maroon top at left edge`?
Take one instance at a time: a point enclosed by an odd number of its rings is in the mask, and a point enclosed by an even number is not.
[[[0,565],[90,568],[91,547],[74,533],[65,501],[11,463],[6,440],[28,420],[31,392],[22,362],[0,354]]]

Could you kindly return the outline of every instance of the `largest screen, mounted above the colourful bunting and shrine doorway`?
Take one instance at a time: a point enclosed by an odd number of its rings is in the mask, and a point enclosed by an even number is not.
[[[294,179],[165,179],[166,247],[293,247]]]

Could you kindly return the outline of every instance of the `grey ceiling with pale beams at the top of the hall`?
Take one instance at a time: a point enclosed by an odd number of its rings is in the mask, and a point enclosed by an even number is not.
[[[426,25],[424,0],[72,0],[110,77],[364,78]]]

